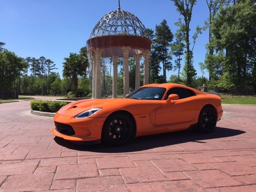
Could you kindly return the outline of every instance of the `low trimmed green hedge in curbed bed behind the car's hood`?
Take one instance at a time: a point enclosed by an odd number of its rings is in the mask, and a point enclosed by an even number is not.
[[[67,102],[60,101],[43,101],[33,100],[30,102],[32,110],[43,112],[57,112],[60,108],[68,104]]]

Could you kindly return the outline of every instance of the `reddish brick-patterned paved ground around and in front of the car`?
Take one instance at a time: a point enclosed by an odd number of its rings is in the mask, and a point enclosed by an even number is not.
[[[256,191],[256,106],[223,106],[212,134],[136,138],[110,148],[54,138],[30,101],[0,104],[0,191]]]

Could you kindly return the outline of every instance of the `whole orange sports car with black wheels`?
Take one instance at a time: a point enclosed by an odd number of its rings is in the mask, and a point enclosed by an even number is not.
[[[86,99],[62,107],[52,133],[70,141],[126,144],[134,137],[186,130],[210,133],[222,117],[220,96],[173,83],[148,84],[126,98]]]

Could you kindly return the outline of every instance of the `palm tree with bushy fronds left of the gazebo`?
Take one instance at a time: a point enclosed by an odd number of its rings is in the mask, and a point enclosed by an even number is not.
[[[65,57],[64,60],[62,74],[64,77],[72,78],[74,90],[76,90],[78,86],[77,76],[84,75],[86,66],[81,62],[80,56],[76,53],[70,53],[69,57]]]

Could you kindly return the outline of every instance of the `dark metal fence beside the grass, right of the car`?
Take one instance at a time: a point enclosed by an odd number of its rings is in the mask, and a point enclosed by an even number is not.
[[[201,89],[204,87],[201,87]],[[254,88],[232,88],[229,90],[220,90],[218,88],[207,87],[204,90],[208,92],[218,92],[222,99],[226,98],[245,98],[245,97],[256,97],[256,90]]]

